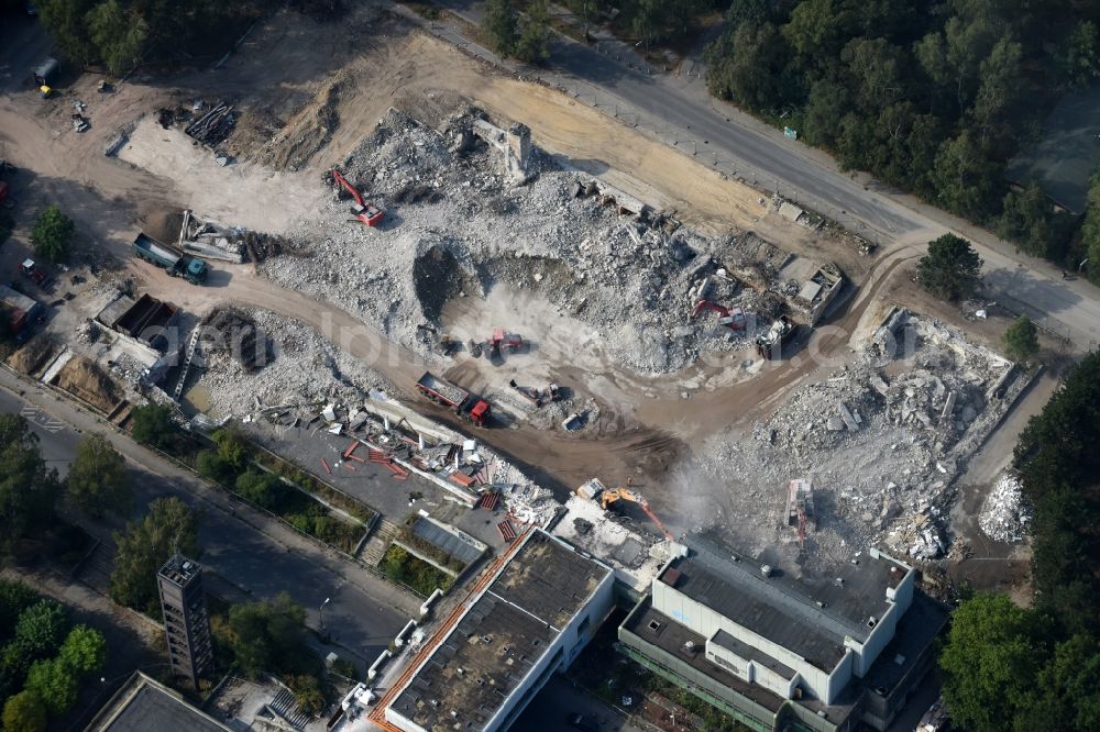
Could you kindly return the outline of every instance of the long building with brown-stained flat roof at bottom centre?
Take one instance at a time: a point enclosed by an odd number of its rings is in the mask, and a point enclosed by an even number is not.
[[[387,722],[405,732],[507,729],[591,640],[614,603],[610,567],[541,529],[519,541],[429,642]]]

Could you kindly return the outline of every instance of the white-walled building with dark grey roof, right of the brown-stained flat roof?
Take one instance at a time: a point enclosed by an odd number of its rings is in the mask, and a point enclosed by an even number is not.
[[[701,544],[619,626],[624,653],[747,727],[886,729],[930,667],[946,610],[872,550],[795,577]]]

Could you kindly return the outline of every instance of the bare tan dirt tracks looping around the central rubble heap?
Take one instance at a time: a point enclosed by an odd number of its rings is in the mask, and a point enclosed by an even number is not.
[[[498,119],[527,123],[535,141],[561,156],[563,163],[600,174],[654,206],[676,209],[689,223],[712,231],[752,229],[785,248],[818,249],[818,256],[822,247],[829,245],[807,230],[768,214],[757,191],[724,180],[691,156],[557,91],[499,76],[446,44],[410,34],[400,23],[380,22],[372,13],[361,9],[349,22],[324,26],[278,14],[262,23],[241,53],[216,71],[172,78],[139,76],[106,97],[97,96],[98,78],[90,75],[75,79],[59,99],[45,102],[9,86],[0,100],[6,154],[33,175],[25,191],[29,201],[57,202],[65,208],[95,242],[92,256],[103,253],[129,260],[127,245],[134,221],[143,210],[157,206],[196,207],[245,225],[261,228],[255,223],[260,220],[268,231],[292,230],[298,221],[314,215],[316,199],[308,195],[288,197],[286,192],[323,193],[318,174],[367,135],[389,106],[402,106],[420,119],[433,119],[433,113],[473,100]],[[349,58],[349,47],[361,53]],[[4,63],[14,64],[11,59]],[[77,98],[88,102],[87,115],[92,122],[92,129],[82,135],[72,132],[67,119],[68,103]],[[261,152],[272,165],[287,165],[287,169],[273,170],[255,163],[216,168],[190,159],[170,140],[164,158],[144,160],[145,167],[103,156],[108,142],[140,115],[195,98],[240,100],[240,106],[250,110],[248,119],[242,118],[242,127],[254,131],[257,141],[265,125],[288,127],[285,134],[264,143]],[[308,143],[307,138],[318,135]],[[170,135],[166,132],[166,136]],[[309,154],[310,147],[320,153]],[[197,148],[195,154],[202,155]],[[122,157],[127,157],[125,152]],[[857,280],[865,278],[866,259],[848,251],[824,251]],[[419,358],[375,329],[330,303],[257,278],[248,267],[219,265],[210,287],[194,288],[142,263],[129,266],[160,296],[198,313],[238,302],[300,320],[371,363],[398,387],[407,389],[422,368]],[[843,323],[858,321],[880,277],[893,270],[893,265],[876,266],[870,286],[849,301]],[[843,353],[845,345],[846,340],[834,333],[815,337],[807,344],[807,353]],[[654,475],[675,462],[688,442],[738,418],[746,419],[761,404],[776,403],[787,388],[816,367],[810,358],[793,366],[779,365],[760,379],[696,401],[680,400],[674,379],[667,380],[663,395],[656,399],[649,388],[636,391],[624,379],[623,402],[636,408],[624,411],[604,433],[576,440],[518,429],[488,432],[485,439],[561,488],[571,488],[595,473],[609,480]]]

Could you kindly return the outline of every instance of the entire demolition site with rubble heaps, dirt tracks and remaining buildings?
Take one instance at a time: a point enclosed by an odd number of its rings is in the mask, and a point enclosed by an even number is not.
[[[280,38],[324,51],[278,13],[218,80],[86,106],[65,135],[153,192],[0,288],[8,365],[122,430],[153,401],[239,431],[349,526],[351,570],[424,601],[341,729],[506,729],[609,613],[626,657],[751,729],[887,729],[971,547],[1023,551],[1015,478],[968,473],[1042,378],[1004,317],[971,330],[912,258],[689,155],[728,218],[593,166],[542,112],[618,121],[352,15],[371,51],[293,90],[257,76]]]

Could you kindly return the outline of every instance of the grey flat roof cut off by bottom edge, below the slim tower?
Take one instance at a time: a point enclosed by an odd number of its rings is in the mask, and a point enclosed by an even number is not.
[[[230,732],[179,694],[136,672],[85,732]]]

